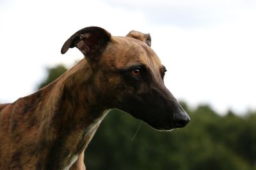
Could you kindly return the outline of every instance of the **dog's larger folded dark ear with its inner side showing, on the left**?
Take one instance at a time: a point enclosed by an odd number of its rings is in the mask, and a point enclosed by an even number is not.
[[[61,53],[67,52],[68,48],[76,46],[86,57],[98,60],[108,42],[111,34],[100,27],[85,27],[77,31],[64,43]]]

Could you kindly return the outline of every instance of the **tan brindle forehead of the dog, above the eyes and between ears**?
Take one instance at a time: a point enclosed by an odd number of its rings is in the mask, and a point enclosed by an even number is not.
[[[159,69],[161,61],[156,53],[145,42],[134,38],[113,36],[106,51],[104,62],[115,63],[115,67],[129,67],[145,64],[150,68]]]

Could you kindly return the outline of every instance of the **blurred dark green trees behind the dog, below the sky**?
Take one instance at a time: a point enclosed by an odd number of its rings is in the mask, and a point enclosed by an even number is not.
[[[63,66],[49,69],[40,87],[64,71]],[[255,112],[238,117],[228,111],[221,117],[207,105],[191,110],[181,104],[191,122],[172,132],[155,131],[127,113],[112,110],[86,149],[87,169],[256,170]]]

